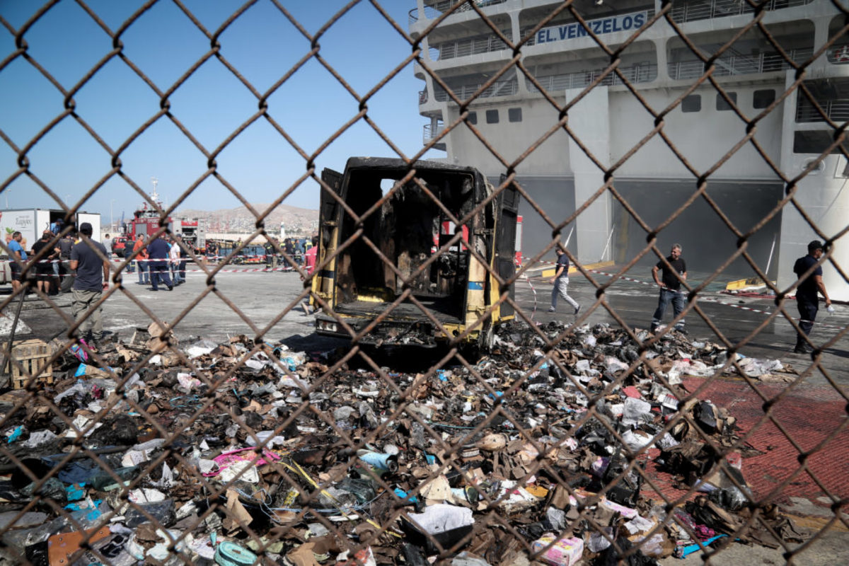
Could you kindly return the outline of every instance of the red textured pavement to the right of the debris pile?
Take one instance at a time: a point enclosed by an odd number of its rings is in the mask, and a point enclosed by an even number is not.
[[[703,378],[686,378],[684,385],[694,391],[705,385],[698,397],[710,400],[717,406],[728,408],[737,418],[739,434],[747,434],[764,416],[763,401],[745,381],[738,379],[713,379],[706,384]],[[756,384],[767,399],[774,399],[786,389],[785,384]],[[849,393],[849,392],[847,392]],[[788,395],[773,404],[774,420],[784,428],[787,436],[775,425],[767,421],[762,423],[751,436],[748,443],[762,454],[746,457],[743,460],[743,475],[756,497],[769,496],[785,479],[790,478],[801,466],[800,450],[788,440],[788,436],[800,447],[801,451],[816,451],[807,458],[808,469],[797,474],[788,485],[772,493],[775,502],[787,502],[791,496],[805,497],[814,502],[815,498],[825,496],[826,490],[832,496],[849,501],[849,423],[847,423],[849,404],[835,388],[830,386],[807,386],[802,383]],[[835,429],[841,431],[823,446],[819,446]],[[652,459],[656,452],[651,453]],[[647,470],[650,477],[658,482],[658,487],[672,501],[685,493],[672,487],[672,478],[657,470],[650,462]],[[819,484],[814,480],[818,479]],[[652,496],[649,492],[647,494]]]

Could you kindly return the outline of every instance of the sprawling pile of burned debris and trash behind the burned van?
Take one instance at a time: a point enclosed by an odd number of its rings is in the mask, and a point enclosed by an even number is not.
[[[806,536],[684,389],[737,371],[710,342],[512,323],[473,366],[398,373],[149,330],[0,397],[0,563],[651,564]]]

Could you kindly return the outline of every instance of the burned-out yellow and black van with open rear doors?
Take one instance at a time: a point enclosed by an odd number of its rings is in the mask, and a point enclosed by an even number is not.
[[[312,292],[330,311],[318,333],[369,345],[432,346],[463,336],[488,347],[514,317],[519,193],[496,193],[472,167],[352,157],[325,169]],[[347,327],[347,328],[346,328]],[[468,331],[468,333],[467,333]],[[465,333],[465,334],[464,334]]]

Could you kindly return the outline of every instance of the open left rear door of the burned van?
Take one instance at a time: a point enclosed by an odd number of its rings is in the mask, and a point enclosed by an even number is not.
[[[339,195],[340,199],[345,199],[345,190],[342,188],[342,174],[339,171],[332,169],[324,169],[321,172],[321,180],[332,190]],[[318,210],[318,257],[316,257],[316,266],[318,266],[325,257],[333,256],[336,253],[336,245],[339,242],[339,224],[340,212],[343,212],[340,202],[328,193],[326,188],[321,188],[321,198],[319,200]],[[312,292],[318,294],[322,300],[333,302],[333,293],[335,285],[336,259],[330,261],[323,270],[314,273],[312,277]]]

